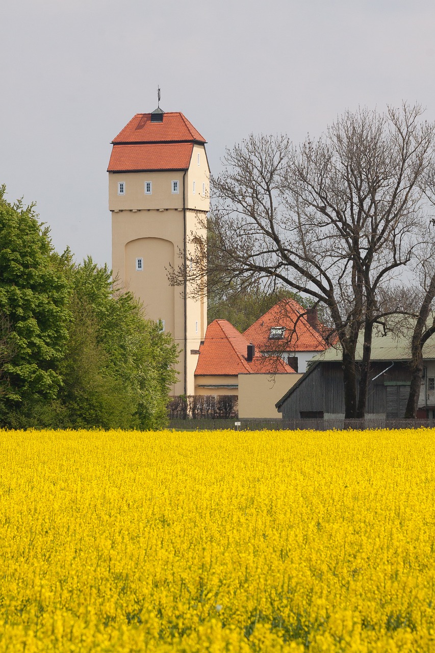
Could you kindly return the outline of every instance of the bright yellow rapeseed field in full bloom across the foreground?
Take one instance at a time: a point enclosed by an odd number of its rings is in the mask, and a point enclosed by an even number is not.
[[[435,652],[435,436],[0,434],[0,652]]]

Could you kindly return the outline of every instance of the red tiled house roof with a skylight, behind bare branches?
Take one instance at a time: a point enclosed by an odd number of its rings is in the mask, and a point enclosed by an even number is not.
[[[293,299],[283,299],[246,329],[244,336],[258,351],[324,351],[328,349],[325,340],[313,328],[306,317],[298,316],[306,310]],[[321,326],[321,325],[319,325]],[[283,338],[269,338],[270,328],[285,327]]]

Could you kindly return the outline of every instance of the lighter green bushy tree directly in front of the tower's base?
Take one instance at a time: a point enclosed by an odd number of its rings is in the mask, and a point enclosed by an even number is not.
[[[178,353],[131,293],[88,258],[69,270],[70,338],[61,396],[74,426],[162,428]]]

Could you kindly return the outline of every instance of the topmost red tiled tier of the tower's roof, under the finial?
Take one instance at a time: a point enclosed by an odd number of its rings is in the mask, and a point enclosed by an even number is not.
[[[155,143],[194,140],[205,143],[199,131],[179,111],[163,114],[162,122],[152,122],[151,114],[136,114],[112,143]]]

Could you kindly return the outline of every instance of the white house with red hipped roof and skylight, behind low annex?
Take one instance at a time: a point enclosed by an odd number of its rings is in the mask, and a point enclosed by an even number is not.
[[[308,360],[329,347],[316,311],[291,298],[272,306],[243,335],[256,351],[281,357],[295,372],[306,372]]]

